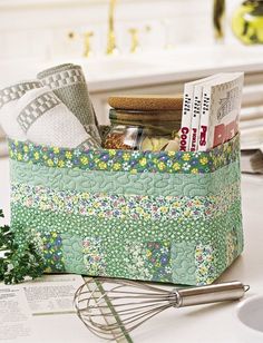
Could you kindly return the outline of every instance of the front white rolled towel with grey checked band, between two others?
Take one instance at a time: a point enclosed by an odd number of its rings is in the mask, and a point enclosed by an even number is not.
[[[48,88],[32,89],[17,102],[18,122],[35,144],[65,148],[100,148],[76,116]]]

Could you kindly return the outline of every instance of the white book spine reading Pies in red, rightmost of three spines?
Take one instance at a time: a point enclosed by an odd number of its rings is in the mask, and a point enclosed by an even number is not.
[[[206,151],[208,149],[210,115],[211,115],[211,87],[204,87],[203,98],[201,104],[199,133],[197,138],[198,151]]]

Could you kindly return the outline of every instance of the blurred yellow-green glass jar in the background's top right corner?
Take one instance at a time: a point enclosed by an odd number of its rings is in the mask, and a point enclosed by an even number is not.
[[[263,1],[242,2],[232,18],[232,30],[245,45],[263,43]]]

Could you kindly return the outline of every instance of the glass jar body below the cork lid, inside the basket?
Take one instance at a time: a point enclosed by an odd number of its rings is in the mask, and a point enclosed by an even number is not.
[[[109,110],[110,129],[104,147],[128,150],[178,150],[182,110]]]

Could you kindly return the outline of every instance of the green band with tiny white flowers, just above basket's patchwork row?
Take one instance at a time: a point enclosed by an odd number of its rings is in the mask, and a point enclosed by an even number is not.
[[[55,213],[51,210],[41,210],[39,207],[25,207],[18,203],[11,204],[13,229],[35,228],[40,234],[60,233],[64,237],[64,247],[67,245],[67,254],[76,249],[82,251],[82,243],[71,249],[69,238],[76,237],[101,237],[108,244],[118,245],[124,239],[127,241],[176,241],[193,242],[222,242],[225,244],[226,233],[230,227],[235,227],[238,233],[238,241],[242,241],[242,216],[241,202],[237,200],[232,207],[222,215],[211,218],[199,218],[195,220],[192,217],[182,217],[174,220],[154,220],[145,219],[134,220],[132,218],[99,218],[96,216],[81,216],[67,213]],[[164,225],[165,223],[165,225]],[[68,239],[65,238],[67,235]],[[225,252],[223,252],[225,255]],[[66,264],[66,262],[65,262]]]

